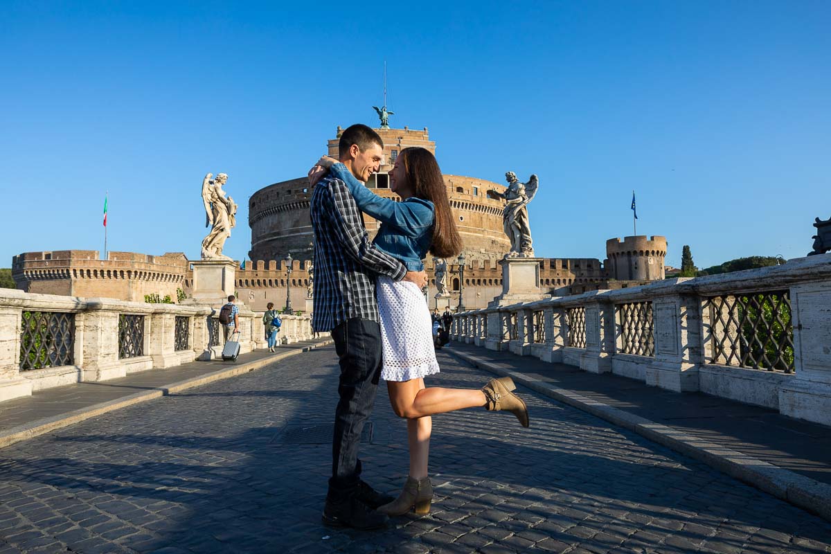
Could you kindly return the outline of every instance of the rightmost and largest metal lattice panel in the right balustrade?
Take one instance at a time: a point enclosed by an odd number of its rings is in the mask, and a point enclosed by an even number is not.
[[[788,291],[708,297],[710,364],[794,372],[794,326]]]

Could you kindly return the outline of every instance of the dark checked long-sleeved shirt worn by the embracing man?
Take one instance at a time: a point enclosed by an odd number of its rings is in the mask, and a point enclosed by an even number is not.
[[[314,309],[312,329],[332,331],[360,317],[378,321],[375,277],[401,281],[406,267],[369,241],[363,216],[347,185],[327,175],[312,191]]]

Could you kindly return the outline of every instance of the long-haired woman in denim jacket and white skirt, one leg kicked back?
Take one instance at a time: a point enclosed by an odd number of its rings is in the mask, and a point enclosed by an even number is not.
[[[450,211],[445,180],[439,164],[429,150],[401,150],[390,172],[390,189],[401,202],[384,199],[361,184],[344,164],[322,158],[309,171],[312,186],[326,173],[347,184],[358,208],[381,222],[374,243],[377,248],[404,262],[408,271],[424,268],[428,250],[436,257],[455,257],[461,250],[459,232]],[[430,512],[433,488],[427,475],[430,451],[430,415],[456,409],[484,406],[489,410],[514,413],[529,426],[528,409],[514,395],[509,377],[492,379],[481,390],[425,388],[424,377],[439,372],[435,360],[430,310],[415,283],[393,282],[379,276],[376,282],[378,311],[381,316],[383,369],[392,409],[407,420],[410,445],[410,476],[401,495],[378,508],[387,515],[401,515],[416,508]]]

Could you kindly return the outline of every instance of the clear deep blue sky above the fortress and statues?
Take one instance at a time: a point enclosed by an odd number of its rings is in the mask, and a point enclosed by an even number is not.
[[[236,5],[239,3],[239,5]],[[199,257],[207,172],[248,197],[337,125],[427,126],[444,173],[536,173],[534,246],[804,256],[831,217],[831,2],[2,2],[0,267],[33,250]],[[396,7],[400,6],[400,10]]]

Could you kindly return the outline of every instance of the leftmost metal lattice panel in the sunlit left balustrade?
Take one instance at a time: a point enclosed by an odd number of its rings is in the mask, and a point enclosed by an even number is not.
[[[23,311],[20,331],[20,370],[73,365],[75,314]]]

